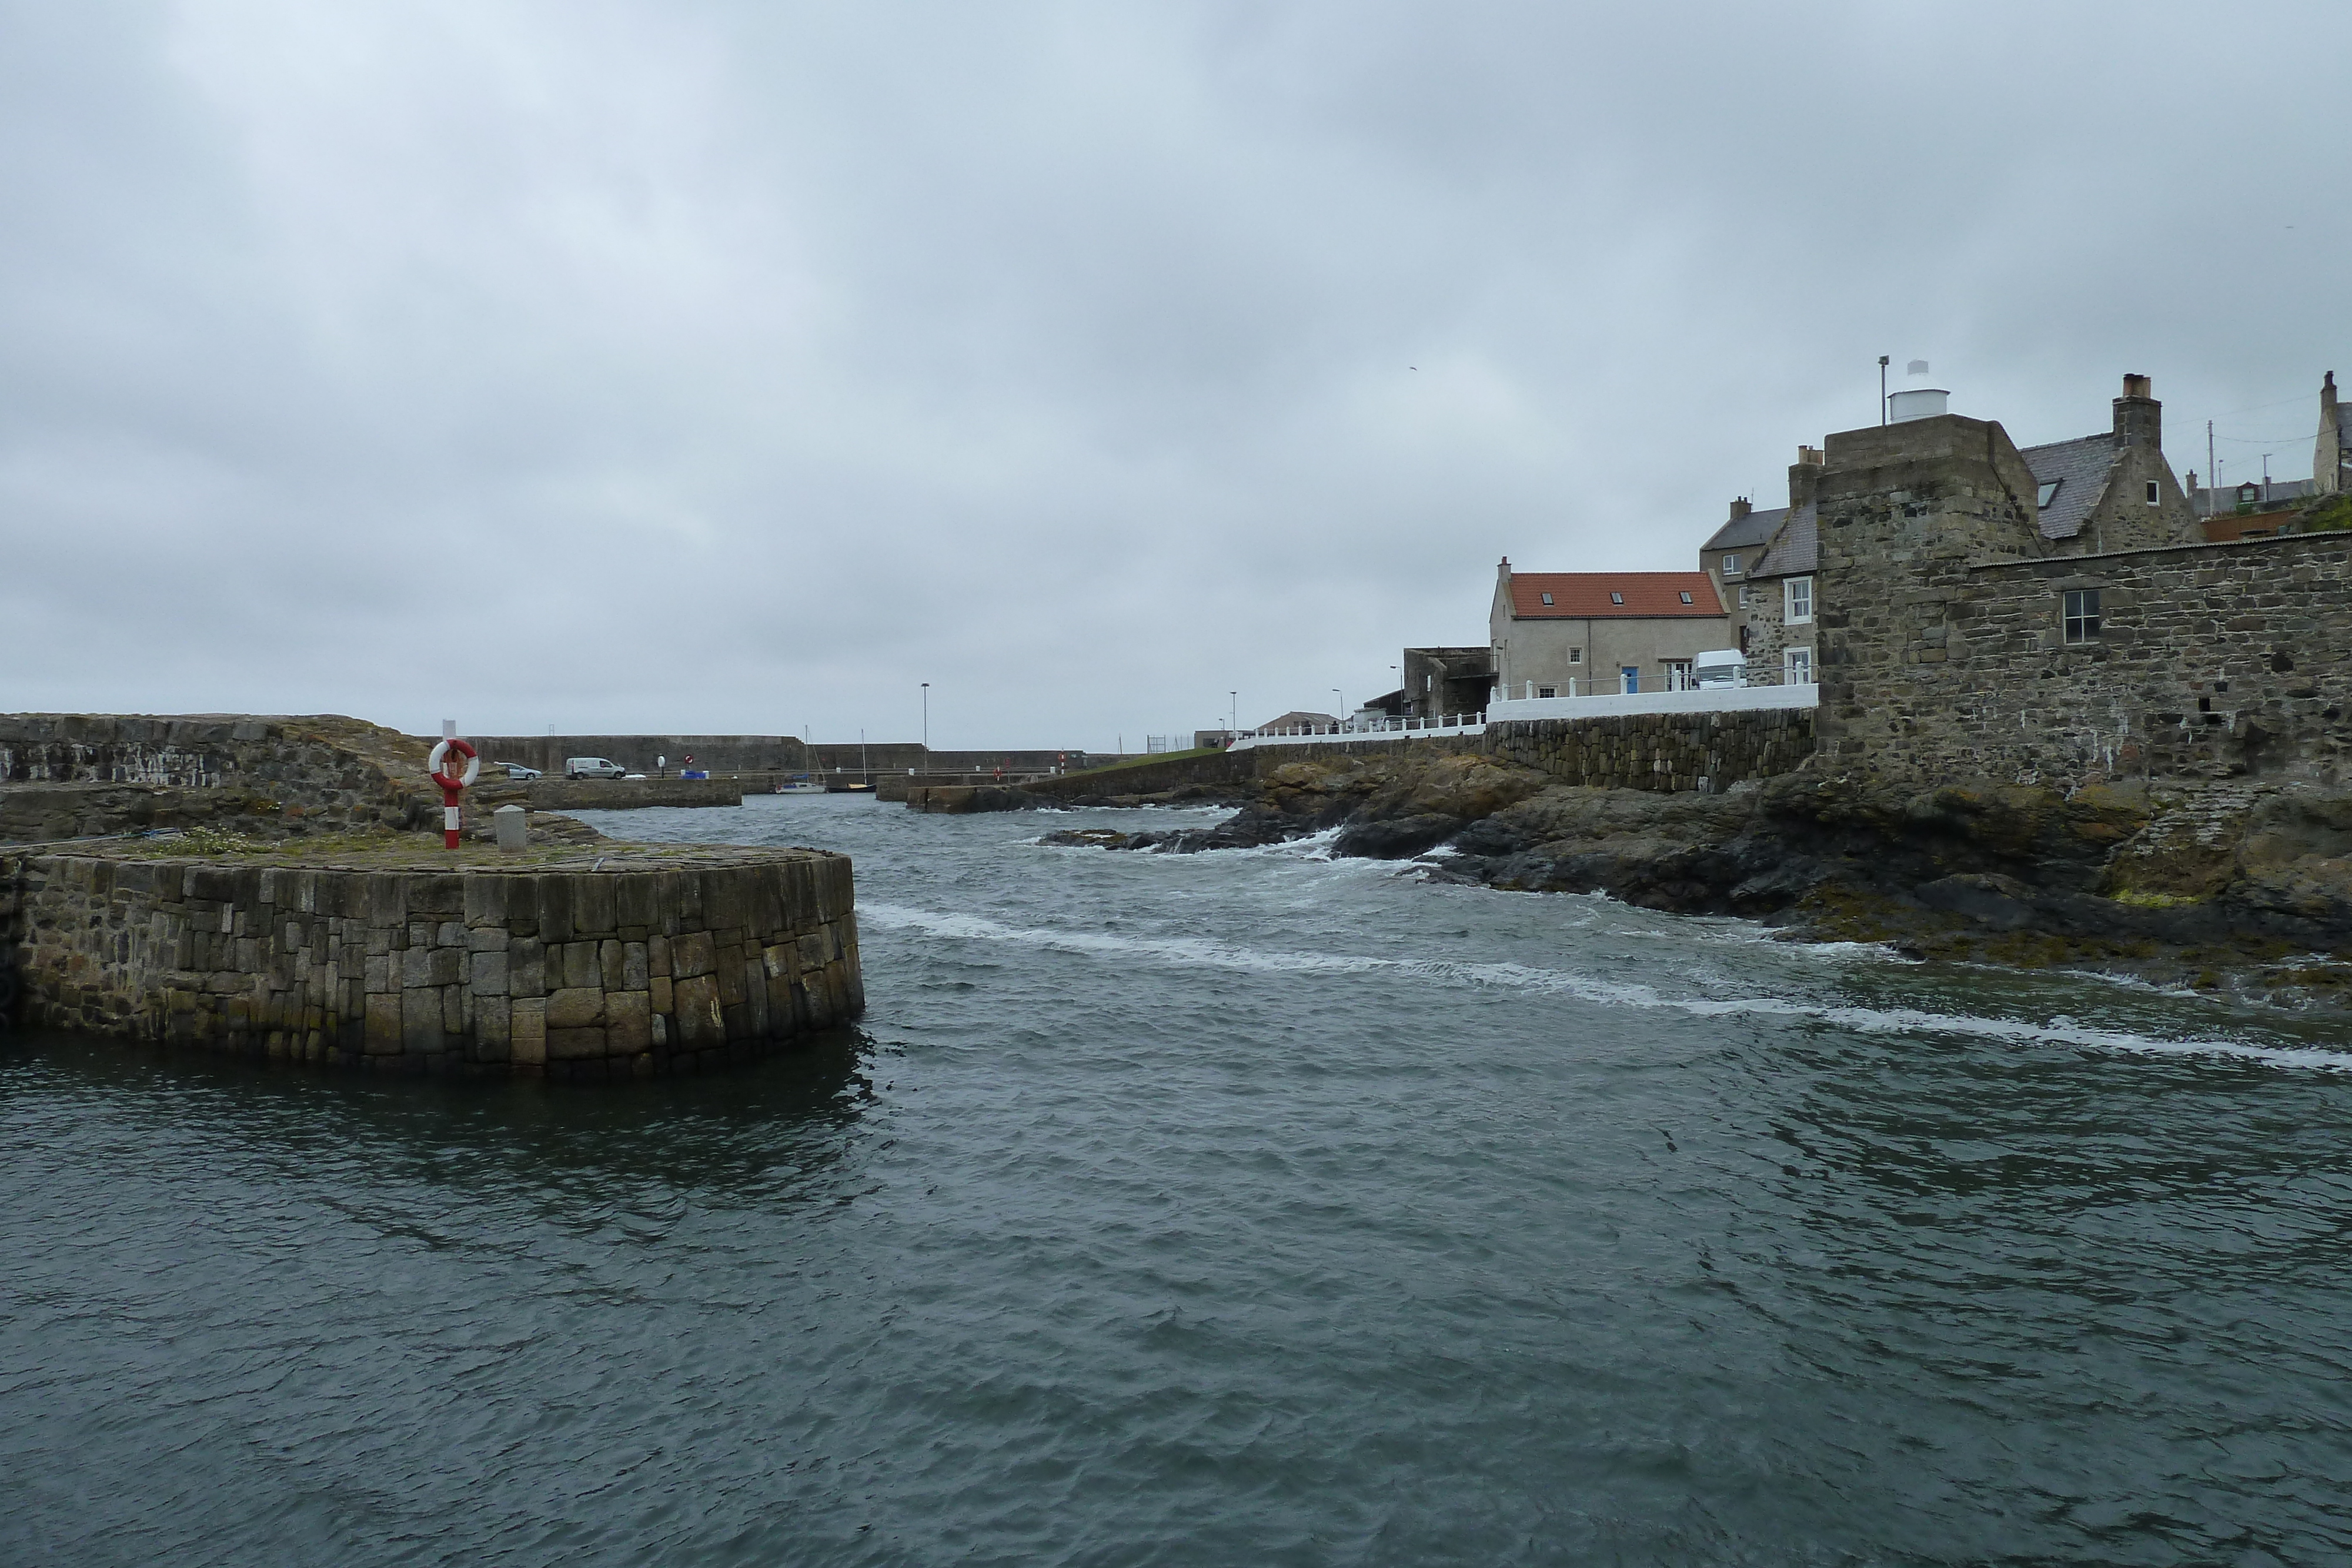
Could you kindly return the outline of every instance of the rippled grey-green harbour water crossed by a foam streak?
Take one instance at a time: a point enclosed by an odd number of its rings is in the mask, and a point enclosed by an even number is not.
[[[16,1037],[0,1561],[2352,1556],[2340,1027],[1171,818],[602,818],[856,856],[731,1077]]]

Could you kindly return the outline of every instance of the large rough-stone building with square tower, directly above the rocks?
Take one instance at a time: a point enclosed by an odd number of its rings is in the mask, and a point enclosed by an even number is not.
[[[2145,381],[2126,383],[2107,470],[2086,465],[2098,494],[2058,527],[2049,487],[2086,468],[2037,470],[1992,421],[1828,437],[1813,480],[1828,766],[2060,788],[2343,780],[2352,534],[2178,529],[2145,404]]]

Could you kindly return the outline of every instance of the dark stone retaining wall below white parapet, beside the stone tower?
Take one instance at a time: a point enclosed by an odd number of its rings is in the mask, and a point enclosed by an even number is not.
[[[1813,755],[1811,708],[1630,712],[1489,724],[1491,757],[1602,790],[1724,790]]]

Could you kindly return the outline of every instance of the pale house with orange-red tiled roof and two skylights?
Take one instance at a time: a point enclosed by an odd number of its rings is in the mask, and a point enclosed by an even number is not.
[[[1503,696],[1675,691],[1731,637],[1705,571],[1512,571],[1508,555],[1486,628]]]

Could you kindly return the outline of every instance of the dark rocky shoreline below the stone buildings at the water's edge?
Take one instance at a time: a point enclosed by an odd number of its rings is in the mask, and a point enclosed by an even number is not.
[[[1298,762],[1258,785],[1089,804],[1207,799],[1240,811],[1214,827],[1047,842],[1190,853],[1336,827],[1334,853],[1421,858],[1442,882],[1609,893],[1922,959],[2352,1009],[2352,797],[2305,785],[2060,792],[1804,769],[1724,795],[1668,795],[1559,785],[1456,755]]]

